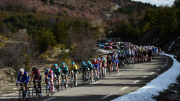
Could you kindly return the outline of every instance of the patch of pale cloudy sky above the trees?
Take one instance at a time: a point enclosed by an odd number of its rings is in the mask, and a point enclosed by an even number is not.
[[[160,6],[160,5],[171,6],[175,0],[132,0],[132,1],[141,1],[141,2],[146,2],[146,3],[151,3],[153,5],[155,4],[156,6]]]

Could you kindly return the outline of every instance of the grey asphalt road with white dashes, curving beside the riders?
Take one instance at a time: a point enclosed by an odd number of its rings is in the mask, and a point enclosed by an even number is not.
[[[36,98],[33,101],[110,101],[143,87],[168,70],[172,64],[171,58],[160,56],[150,63],[124,66],[119,73],[107,74],[106,78],[93,82],[92,85],[82,86],[78,81],[78,87],[56,92],[50,97],[45,97],[43,93],[44,97]],[[18,101],[17,98],[18,93],[15,93],[0,97],[0,101]]]

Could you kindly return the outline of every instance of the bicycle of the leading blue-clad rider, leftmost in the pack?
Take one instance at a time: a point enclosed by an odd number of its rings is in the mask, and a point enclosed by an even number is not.
[[[18,84],[19,83],[16,83],[16,86],[18,87]],[[30,98],[30,91],[29,91],[29,88],[27,89],[27,92],[28,92],[28,96],[26,97],[26,91],[24,90],[24,83],[21,84],[20,83],[20,90],[19,90],[19,101],[22,101],[24,98],[26,99],[26,101],[29,101],[29,98]]]

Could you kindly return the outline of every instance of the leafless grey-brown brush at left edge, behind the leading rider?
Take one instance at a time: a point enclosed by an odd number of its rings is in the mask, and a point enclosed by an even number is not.
[[[0,68],[11,78],[11,82],[16,78],[19,68],[30,69],[35,50],[36,44],[31,37],[28,42],[16,41],[0,49]]]

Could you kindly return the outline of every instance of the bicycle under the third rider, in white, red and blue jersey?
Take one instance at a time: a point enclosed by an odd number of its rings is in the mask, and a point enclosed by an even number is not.
[[[46,83],[46,95],[49,96],[50,94],[53,95],[53,87],[52,87],[52,83],[51,83],[51,79],[46,79],[47,83]]]

